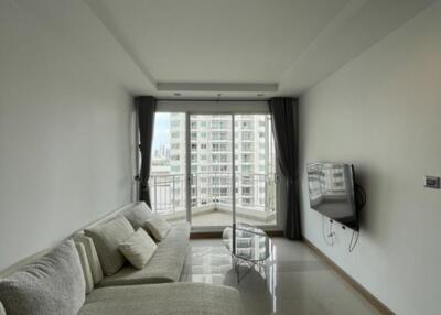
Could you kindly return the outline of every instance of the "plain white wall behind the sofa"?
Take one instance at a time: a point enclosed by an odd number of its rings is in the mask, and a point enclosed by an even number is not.
[[[129,94],[19,2],[0,3],[0,270],[132,196]]]

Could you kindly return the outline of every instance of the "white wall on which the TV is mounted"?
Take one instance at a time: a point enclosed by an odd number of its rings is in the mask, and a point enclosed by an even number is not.
[[[441,308],[441,3],[410,20],[301,99],[303,233],[397,314]],[[309,207],[304,163],[355,164],[367,193],[361,239],[334,247]]]

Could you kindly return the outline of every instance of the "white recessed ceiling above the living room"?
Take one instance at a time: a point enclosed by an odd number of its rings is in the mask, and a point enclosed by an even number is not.
[[[18,0],[133,94],[300,95],[432,0]]]

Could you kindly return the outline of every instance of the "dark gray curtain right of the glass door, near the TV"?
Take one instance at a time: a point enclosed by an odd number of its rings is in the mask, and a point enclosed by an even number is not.
[[[298,100],[290,97],[275,97],[268,105],[272,116],[272,132],[280,169],[287,178],[284,235],[289,239],[300,240]]]

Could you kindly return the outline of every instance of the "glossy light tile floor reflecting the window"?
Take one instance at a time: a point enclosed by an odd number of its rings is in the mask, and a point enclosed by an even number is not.
[[[181,281],[234,286],[249,315],[379,314],[303,243],[272,238],[272,245],[267,281],[252,270],[238,283],[220,239],[192,240]]]

